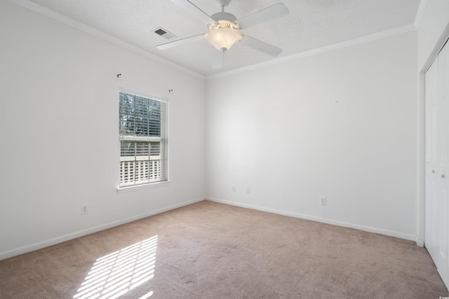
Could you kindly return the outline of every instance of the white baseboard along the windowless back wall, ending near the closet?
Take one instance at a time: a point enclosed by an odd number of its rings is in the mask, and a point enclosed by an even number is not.
[[[406,239],[406,240],[409,240],[409,241],[415,241],[415,242],[417,242],[417,246],[420,246],[420,244],[418,244],[418,239],[417,239],[416,236],[403,234],[401,232],[394,232],[392,230],[382,230],[381,228],[372,228],[370,226],[358,225],[358,224],[354,224],[354,223],[347,223],[347,222],[343,222],[343,221],[336,221],[336,220],[320,218],[320,217],[316,217],[316,216],[297,214],[297,213],[292,213],[292,212],[289,212],[289,211],[282,211],[282,210],[278,210],[278,209],[270,209],[270,208],[267,208],[267,207],[255,206],[253,204],[242,204],[241,202],[232,202],[232,201],[229,201],[229,200],[220,200],[218,198],[213,198],[213,197],[206,197],[206,200],[210,200],[210,201],[213,201],[213,202],[219,202],[219,203],[222,203],[222,204],[230,204],[230,205],[233,205],[233,206],[236,206],[236,207],[243,207],[243,208],[248,208],[248,209],[256,209],[258,211],[267,211],[269,213],[274,213],[274,214],[279,214],[279,215],[284,215],[284,216],[290,216],[290,217],[295,217],[295,218],[302,218],[302,219],[311,220],[311,221],[317,221],[317,222],[321,222],[321,223],[328,223],[328,224],[332,224],[332,225],[343,226],[345,228],[355,228],[356,230],[363,230],[363,231],[366,231],[366,232],[375,232],[375,233],[380,234],[380,235],[387,235],[387,236],[390,236],[390,237],[398,237],[400,239]],[[424,242],[423,242],[423,244],[424,244]]]

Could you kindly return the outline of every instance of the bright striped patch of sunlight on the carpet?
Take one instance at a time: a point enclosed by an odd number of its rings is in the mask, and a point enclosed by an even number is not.
[[[98,258],[74,299],[118,298],[154,277],[157,236]],[[152,291],[142,298],[149,298]]]

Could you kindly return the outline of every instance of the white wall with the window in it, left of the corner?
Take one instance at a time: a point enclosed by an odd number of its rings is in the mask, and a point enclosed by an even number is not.
[[[4,0],[0,47],[0,259],[203,199],[203,79]],[[169,186],[116,192],[119,87],[168,97]]]

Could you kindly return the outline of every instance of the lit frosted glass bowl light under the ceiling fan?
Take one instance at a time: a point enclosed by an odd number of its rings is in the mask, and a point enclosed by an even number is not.
[[[210,26],[206,39],[217,50],[229,50],[234,43],[240,41],[243,34],[239,34],[230,22],[220,21],[218,26]]]

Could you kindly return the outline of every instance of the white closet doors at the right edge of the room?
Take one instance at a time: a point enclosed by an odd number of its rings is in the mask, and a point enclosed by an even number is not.
[[[426,73],[426,248],[449,286],[449,46]]]

